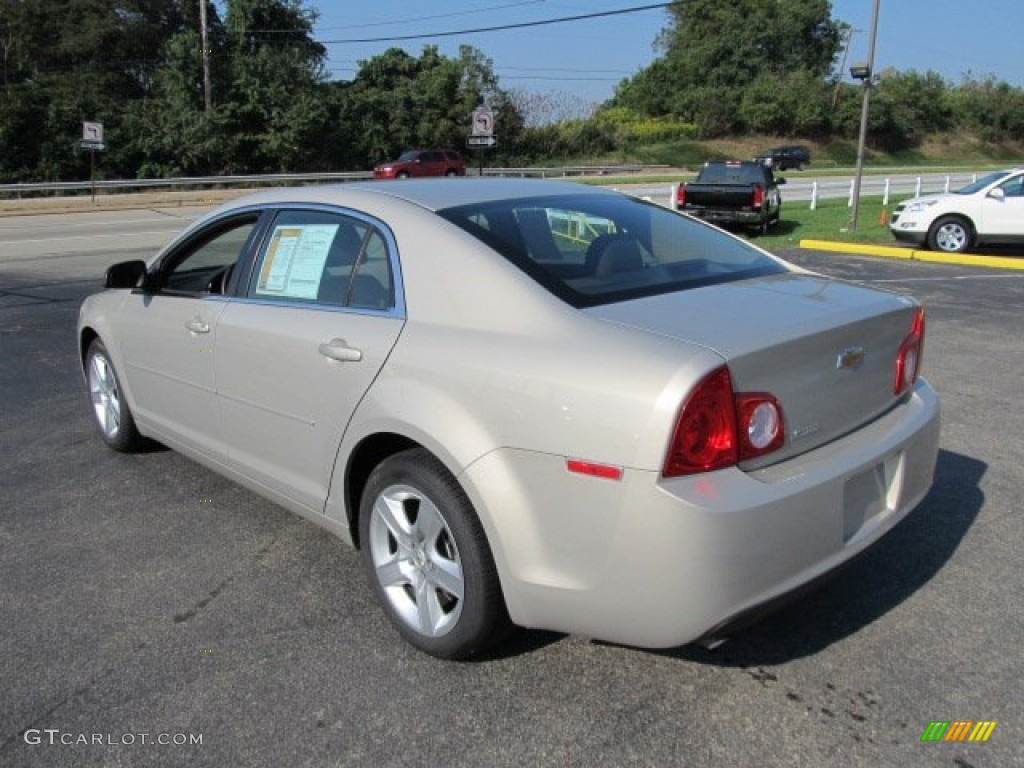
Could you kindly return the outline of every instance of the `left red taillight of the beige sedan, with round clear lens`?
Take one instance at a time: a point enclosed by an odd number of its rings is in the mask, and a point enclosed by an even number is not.
[[[785,441],[782,410],[766,393],[732,391],[729,369],[706,376],[676,422],[663,473],[710,472],[777,451]]]

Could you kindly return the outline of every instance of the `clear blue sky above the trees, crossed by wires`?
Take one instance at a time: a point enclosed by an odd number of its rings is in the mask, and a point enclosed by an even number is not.
[[[314,35],[327,45],[329,75],[350,80],[357,62],[400,47],[419,56],[437,45],[456,56],[472,45],[492,59],[506,89],[564,94],[567,101],[600,102],[615,84],[657,55],[654,42],[668,24],[664,8],[564,24],[450,37],[366,43],[352,39],[524,24],[600,13],[657,0],[307,0],[319,12]],[[728,0],[723,0],[727,2]],[[855,32],[847,61],[866,60],[874,0],[833,0],[833,18]],[[934,71],[958,83],[970,73],[1024,87],[1024,0],[880,0],[876,72]],[[847,75],[847,79],[849,76]]]

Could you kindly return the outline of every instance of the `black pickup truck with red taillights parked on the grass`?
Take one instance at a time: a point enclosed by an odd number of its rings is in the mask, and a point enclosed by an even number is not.
[[[762,234],[778,222],[782,197],[771,168],[761,163],[714,161],[705,163],[696,181],[676,190],[677,211],[722,226],[753,228]]]

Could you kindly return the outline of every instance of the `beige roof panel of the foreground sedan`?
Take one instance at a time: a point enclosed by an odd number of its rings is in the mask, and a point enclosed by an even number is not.
[[[253,206],[314,204],[360,207],[375,196],[402,200],[430,211],[470,203],[560,195],[615,195],[600,187],[568,181],[523,178],[419,178],[401,181],[354,181],[321,186],[290,186],[246,195],[221,206],[218,213]]]

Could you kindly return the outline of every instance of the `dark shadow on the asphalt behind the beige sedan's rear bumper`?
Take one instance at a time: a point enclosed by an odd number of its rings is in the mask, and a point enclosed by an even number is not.
[[[656,653],[718,667],[758,667],[809,656],[856,633],[928,584],[952,558],[984,504],[987,465],[940,451],[931,493],[876,546],[817,589],[735,634],[715,650]]]

